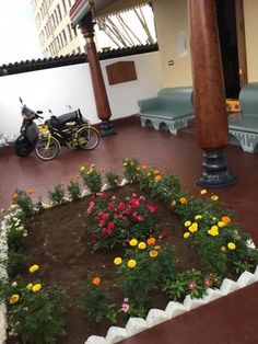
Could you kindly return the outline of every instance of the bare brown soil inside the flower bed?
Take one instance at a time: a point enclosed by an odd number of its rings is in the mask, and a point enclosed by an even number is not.
[[[126,185],[107,193],[121,198],[132,193],[144,195],[136,185]],[[85,313],[78,309],[79,286],[86,279],[89,273],[93,272],[105,280],[117,309],[124,299],[115,285],[116,266],[113,263],[114,257],[122,254],[121,249],[93,252],[93,248],[86,242],[85,211],[89,199],[87,196],[78,202],[43,210],[35,217],[26,238],[25,252],[28,254],[28,262],[31,265],[40,266],[38,276],[43,286],[57,283],[67,289],[66,336],[61,337],[58,344],[82,344],[92,334],[105,336],[110,326],[107,322],[101,324],[89,322]],[[183,239],[184,229],[178,218],[159,200],[153,202],[159,207],[162,230],[168,233],[168,240],[175,245],[178,268],[180,271],[198,268],[200,264],[197,254],[189,246],[189,242]],[[164,309],[167,302],[165,295],[159,294],[152,298],[150,308]],[[122,319],[118,325],[125,325]]]

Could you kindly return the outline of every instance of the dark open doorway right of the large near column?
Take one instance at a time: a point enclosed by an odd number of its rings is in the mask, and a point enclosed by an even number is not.
[[[239,53],[245,55],[245,50],[243,51],[243,47],[238,49],[239,35],[242,35],[242,33],[238,32],[239,13],[238,11],[236,12],[238,5],[239,1],[235,0],[215,0],[224,84],[227,99],[237,99],[241,87],[243,85],[239,73],[239,71],[243,72]],[[243,16],[243,8],[241,14]]]

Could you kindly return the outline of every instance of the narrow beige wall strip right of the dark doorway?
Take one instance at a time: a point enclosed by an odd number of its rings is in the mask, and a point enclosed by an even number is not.
[[[244,0],[248,82],[258,81],[258,1]]]

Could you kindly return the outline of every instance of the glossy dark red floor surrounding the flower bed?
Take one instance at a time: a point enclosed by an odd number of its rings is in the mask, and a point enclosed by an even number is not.
[[[68,183],[80,164],[95,163],[98,168],[122,174],[122,159],[137,158],[141,163],[173,171],[183,186],[198,194],[196,185],[201,173],[201,150],[192,128],[177,136],[168,131],[142,128],[138,117],[116,122],[118,135],[103,138],[93,151],[63,148],[57,159],[45,162],[34,154],[25,159],[14,156],[12,148],[0,149],[0,208],[9,206],[15,188],[35,190],[35,200],[47,199],[47,188],[58,182]],[[245,153],[228,146],[226,158],[237,176],[237,184],[213,191],[237,215],[241,227],[258,244],[258,154]],[[255,344],[258,343],[258,283],[243,288],[210,305],[177,317],[133,337],[124,344]],[[74,343],[77,344],[77,343]]]

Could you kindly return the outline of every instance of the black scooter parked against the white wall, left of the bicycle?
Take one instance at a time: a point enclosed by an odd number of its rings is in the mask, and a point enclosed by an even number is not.
[[[43,118],[39,114],[43,114],[43,111],[33,111],[23,104],[22,99],[19,99],[22,104],[22,127],[21,135],[16,138],[14,142],[14,150],[17,157],[24,158],[27,157],[33,149],[35,148],[38,137],[39,130],[37,125],[34,123],[34,119]]]

